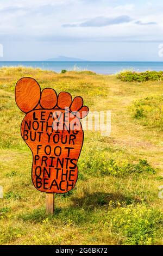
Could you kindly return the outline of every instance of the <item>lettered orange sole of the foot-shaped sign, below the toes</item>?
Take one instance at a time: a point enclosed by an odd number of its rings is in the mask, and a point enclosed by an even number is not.
[[[60,113],[59,113],[60,112]],[[52,128],[54,118],[65,111],[36,109],[24,117],[21,135],[33,153],[32,180],[37,190],[65,193],[72,190],[78,178],[77,161],[83,145],[83,130],[78,120],[78,131]],[[74,117],[66,116],[73,122]],[[58,121],[57,118],[55,118]],[[61,119],[60,119],[61,120]],[[61,125],[68,124],[61,121]],[[66,126],[65,126],[66,127]]]

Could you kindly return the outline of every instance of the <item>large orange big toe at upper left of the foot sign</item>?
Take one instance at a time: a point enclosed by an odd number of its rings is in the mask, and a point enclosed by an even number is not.
[[[37,106],[40,95],[40,86],[33,78],[23,77],[16,83],[15,101],[24,113],[32,111]]]

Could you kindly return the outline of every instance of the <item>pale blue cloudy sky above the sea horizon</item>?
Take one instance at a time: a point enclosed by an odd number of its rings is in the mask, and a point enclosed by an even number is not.
[[[0,0],[0,61],[163,61],[162,9],[162,0]]]

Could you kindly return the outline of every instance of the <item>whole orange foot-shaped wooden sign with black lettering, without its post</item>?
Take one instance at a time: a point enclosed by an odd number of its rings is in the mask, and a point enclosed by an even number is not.
[[[59,95],[52,88],[43,89],[30,77],[16,83],[17,106],[26,113],[21,124],[23,140],[33,154],[32,181],[37,190],[66,193],[78,178],[77,162],[84,133],[80,119],[89,108],[77,96]]]

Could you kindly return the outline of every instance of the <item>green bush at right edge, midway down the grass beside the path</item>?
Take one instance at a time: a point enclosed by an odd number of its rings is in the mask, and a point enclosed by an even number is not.
[[[142,125],[163,130],[163,96],[135,101],[128,109],[131,116]]]

